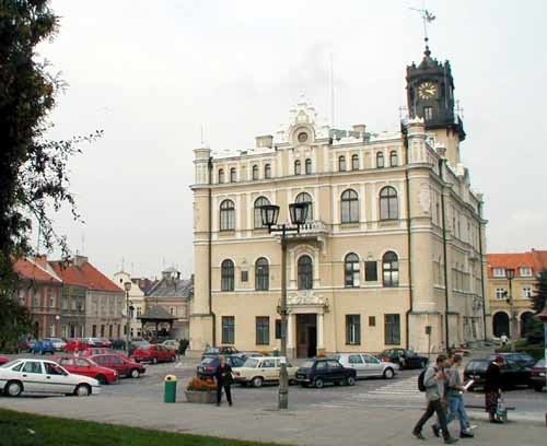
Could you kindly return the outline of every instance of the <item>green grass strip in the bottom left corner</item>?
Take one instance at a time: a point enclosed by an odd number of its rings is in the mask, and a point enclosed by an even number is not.
[[[211,420],[214,423],[214,420]],[[242,427],[244,429],[244,427]],[[100,424],[32,415],[0,409],[1,446],[244,446],[271,443],[238,442],[209,436]]]

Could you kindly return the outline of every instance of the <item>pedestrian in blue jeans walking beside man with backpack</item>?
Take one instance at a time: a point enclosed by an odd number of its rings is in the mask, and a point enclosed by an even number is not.
[[[465,387],[461,374],[462,356],[454,354],[452,356],[452,366],[446,374],[449,376],[446,386],[446,397],[449,399],[449,415],[446,416],[446,425],[456,419],[459,420],[459,438],[473,438],[475,435],[470,432],[469,418],[465,410],[464,391]],[[440,436],[441,426],[439,422],[433,424],[433,434]]]

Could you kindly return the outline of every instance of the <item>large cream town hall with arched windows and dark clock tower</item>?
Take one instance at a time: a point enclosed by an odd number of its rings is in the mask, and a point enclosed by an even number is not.
[[[286,223],[292,202],[309,218],[288,246],[290,356],[482,339],[482,200],[461,161],[453,90],[427,48],[407,68],[400,131],[331,129],[301,101],[255,149],[196,149],[190,349],[279,348],[281,247],[259,208],[279,206]]]

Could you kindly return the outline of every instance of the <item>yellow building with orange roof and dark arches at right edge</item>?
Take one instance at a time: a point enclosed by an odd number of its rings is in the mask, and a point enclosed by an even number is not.
[[[547,270],[547,251],[489,254],[488,298],[491,310],[491,332],[499,338],[523,337],[534,312],[531,297],[538,274]],[[507,271],[514,271],[510,281]]]

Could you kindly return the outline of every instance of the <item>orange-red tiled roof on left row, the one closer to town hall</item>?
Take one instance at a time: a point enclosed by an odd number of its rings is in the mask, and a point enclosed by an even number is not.
[[[69,260],[49,262],[57,274],[68,285],[82,286],[93,291],[123,293],[123,290],[110,279],[98,271],[88,260],[74,262]]]

